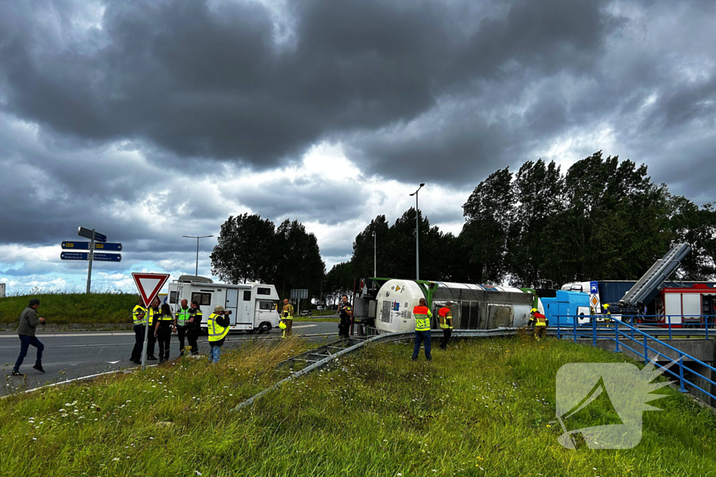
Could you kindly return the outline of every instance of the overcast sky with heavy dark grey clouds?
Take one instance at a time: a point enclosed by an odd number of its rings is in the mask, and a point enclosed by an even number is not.
[[[0,281],[84,288],[60,242],[192,273],[229,215],[299,220],[330,268],[376,215],[459,232],[495,169],[599,149],[716,200],[716,2],[0,0]],[[199,274],[208,275],[200,247]]]

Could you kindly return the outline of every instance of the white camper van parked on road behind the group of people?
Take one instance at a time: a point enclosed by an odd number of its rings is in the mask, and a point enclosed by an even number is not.
[[[179,280],[169,284],[168,302],[174,313],[180,308],[181,300],[197,301],[203,312],[203,329],[216,305],[231,311],[229,330],[266,333],[279,326],[279,294],[274,285],[226,285],[214,283],[211,278],[181,275]]]

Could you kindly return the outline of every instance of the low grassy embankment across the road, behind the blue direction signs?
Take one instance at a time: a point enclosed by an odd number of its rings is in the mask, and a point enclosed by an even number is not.
[[[30,298],[39,298],[38,313],[47,323],[132,323],[138,295],[130,293],[43,293],[0,298],[0,324],[16,324]]]

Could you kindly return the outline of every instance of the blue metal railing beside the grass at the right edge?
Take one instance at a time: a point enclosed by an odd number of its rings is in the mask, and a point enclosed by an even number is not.
[[[684,315],[679,315],[684,316]],[[687,373],[691,373],[691,375],[701,378],[707,383],[711,383],[712,385],[716,386],[716,382],[714,382],[712,379],[716,379],[716,368],[714,368],[712,365],[708,365],[707,363],[704,363],[701,360],[698,360],[697,358],[694,358],[693,356],[689,355],[688,353],[684,353],[684,351],[679,350],[677,348],[674,348],[672,345],[669,345],[668,343],[665,343],[662,340],[659,340],[658,338],[654,338],[654,334],[665,334],[667,331],[664,328],[664,331],[661,330],[643,330],[639,327],[635,326],[634,324],[630,323],[624,323],[624,321],[619,320],[619,318],[616,318],[614,315],[609,316],[610,320],[608,323],[598,323],[597,318],[604,318],[604,315],[590,315],[590,316],[574,316],[574,315],[560,315],[556,317],[556,323],[551,325],[550,334],[554,334],[557,336],[557,338],[566,338],[566,339],[574,339],[574,342],[577,343],[577,340],[579,339],[591,339],[591,344],[596,346],[596,340],[611,340],[614,342],[614,352],[615,353],[621,353],[621,348],[627,348],[628,350],[631,350],[632,353],[634,353],[637,356],[640,356],[644,360],[644,364],[649,363],[649,352],[651,352],[651,358],[657,358],[659,356],[662,356],[666,358],[667,360],[672,360],[672,358],[669,358],[668,355],[662,353],[659,350],[656,350],[653,348],[653,345],[658,343],[663,348],[666,348],[667,350],[671,350],[672,354],[675,354],[678,356],[677,359],[677,365],[678,373],[674,372],[672,369],[664,369],[665,373],[669,373],[669,375],[672,375],[674,378],[676,378],[679,381],[679,390],[682,392],[687,391],[687,386],[690,386],[691,388],[694,388],[696,390],[701,391],[705,395],[709,396],[710,398],[716,400],[716,395],[712,394],[710,390],[705,390],[704,388],[701,388],[699,385],[692,383],[691,381],[684,378],[684,368],[686,368]],[[574,320],[571,320],[573,323],[561,323],[563,320],[561,318],[574,318]],[[589,323],[578,323],[579,319],[586,319],[589,318]],[[677,323],[674,323],[676,325]],[[708,339],[708,326],[707,323],[704,323],[705,328],[703,335],[705,338]],[[698,334],[702,334],[701,330],[685,330],[686,333],[694,333],[696,331]],[[716,330],[712,330],[712,335],[714,335],[714,332]],[[677,330],[672,330],[672,327],[670,325],[669,320],[669,339],[672,339],[672,333],[677,333]],[[679,333],[681,334],[681,333]],[[714,337],[716,338],[716,337]],[[633,348],[632,348],[633,346]],[[691,368],[688,368],[687,366],[684,366],[684,358],[688,358],[694,363],[698,363],[702,365],[705,368],[705,372],[709,373],[709,376],[703,375],[701,373],[698,373],[696,370],[693,370]]]

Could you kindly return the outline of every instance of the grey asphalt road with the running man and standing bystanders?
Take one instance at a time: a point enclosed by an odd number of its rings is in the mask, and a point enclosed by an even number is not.
[[[39,328],[38,328],[39,330]],[[316,335],[323,333],[338,333],[338,323],[306,323],[294,324],[294,335]],[[232,333],[226,339],[224,349],[236,346],[244,340],[252,338],[278,338],[279,330],[272,330],[265,335],[246,335]],[[0,334],[0,395],[13,393],[17,390],[37,388],[49,383],[57,383],[82,376],[104,373],[106,371],[120,370],[135,367],[129,358],[134,346],[134,333],[126,331],[113,332],[83,332],[83,333],[37,333],[37,338],[44,344],[42,354],[42,367],[46,373],[42,374],[32,369],[35,363],[36,350],[29,348],[24,362],[20,368],[25,378],[12,377],[12,367],[20,351],[20,340],[15,333]],[[322,337],[321,337],[322,338]],[[208,352],[208,341],[205,336],[199,338],[200,353]],[[155,347],[159,353],[158,345]],[[169,358],[179,355],[179,340],[174,335],[171,342]],[[158,361],[147,361],[155,364]]]

